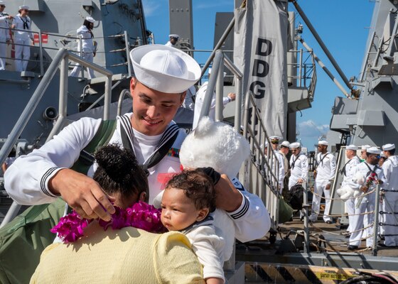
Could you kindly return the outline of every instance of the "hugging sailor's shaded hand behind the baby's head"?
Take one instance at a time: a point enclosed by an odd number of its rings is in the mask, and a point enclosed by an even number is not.
[[[230,178],[224,174],[215,185],[215,195],[215,206],[227,212],[237,210],[243,201],[242,194],[232,185]]]

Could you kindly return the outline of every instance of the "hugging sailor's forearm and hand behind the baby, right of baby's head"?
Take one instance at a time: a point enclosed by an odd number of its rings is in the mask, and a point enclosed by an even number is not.
[[[262,200],[246,190],[237,178],[221,175],[215,185],[217,208],[224,209],[235,224],[236,239],[245,242],[265,236],[271,226],[269,213]]]

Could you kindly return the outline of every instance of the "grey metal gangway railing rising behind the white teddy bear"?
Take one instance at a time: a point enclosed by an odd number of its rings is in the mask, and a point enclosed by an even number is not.
[[[258,195],[266,205],[272,223],[276,226],[279,217],[279,160],[271,150],[271,143],[267,130],[262,121],[262,116],[257,109],[255,99],[251,93],[247,93],[243,102],[242,72],[233,64],[232,60],[222,53],[215,52],[213,60],[212,76],[208,82],[208,89],[203,100],[200,118],[208,116],[210,104],[215,92],[215,120],[222,121],[222,97],[223,97],[223,72],[224,67],[232,72],[235,77],[235,131],[243,131],[243,135],[250,142],[251,158],[240,170],[240,180],[249,192]],[[204,70],[203,70],[204,71]],[[242,119],[242,109],[244,118]],[[249,117],[251,116],[251,117]],[[200,120],[199,118],[199,120]],[[243,128],[243,129],[242,129]],[[268,143],[267,153],[264,148]]]

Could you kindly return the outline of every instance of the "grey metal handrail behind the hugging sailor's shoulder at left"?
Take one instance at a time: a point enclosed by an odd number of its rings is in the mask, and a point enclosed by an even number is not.
[[[45,142],[53,138],[53,136],[56,133],[58,133],[58,131],[60,131],[60,129],[65,124],[65,119],[67,116],[67,105],[68,105],[68,60],[77,62],[85,67],[90,67],[92,68],[92,70],[95,70],[107,77],[107,79],[105,80],[105,88],[104,88],[105,92],[104,92],[103,119],[109,119],[110,103],[112,95],[112,75],[113,75],[112,72],[99,65],[96,65],[95,63],[80,58],[80,56],[71,53],[65,48],[61,48],[60,50],[58,50],[58,53],[55,55],[53,61],[50,63],[50,66],[48,67],[48,70],[45,72],[43,79],[38,84],[38,87],[36,88],[35,92],[33,92],[31,99],[29,99],[28,104],[26,104],[26,107],[25,109],[23,109],[21,116],[19,116],[19,119],[18,121],[16,121],[14,128],[12,129],[8,138],[4,142],[4,145],[1,147],[0,164],[4,163],[4,160],[6,160],[6,157],[11,152],[11,149],[14,147],[18,137],[21,135],[23,129],[26,127],[26,124],[28,124],[28,121],[31,119],[33,112],[36,110],[38,103],[43,98],[45,90],[48,88],[48,85],[50,84],[51,80],[53,80],[55,73],[58,72],[58,68],[60,69],[60,96],[59,96],[59,109],[58,109],[59,115],[55,125],[53,126],[52,131],[48,135],[48,138]],[[14,219],[14,217],[16,217],[16,214],[18,214],[20,208],[21,205],[18,205],[16,204],[16,202],[14,202],[11,205],[6,216],[4,217],[3,222],[1,222],[0,227],[11,222],[11,220]]]

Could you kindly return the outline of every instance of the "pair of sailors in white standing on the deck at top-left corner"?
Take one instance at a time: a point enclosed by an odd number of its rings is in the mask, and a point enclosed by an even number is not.
[[[31,18],[29,18],[29,7],[19,6],[18,14],[11,16],[4,13],[6,3],[0,0],[0,70],[6,70],[6,46],[11,43],[9,28],[15,28],[15,70],[22,72],[26,70],[28,60],[31,57],[31,44],[34,44],[31,32]]]

